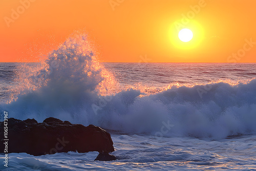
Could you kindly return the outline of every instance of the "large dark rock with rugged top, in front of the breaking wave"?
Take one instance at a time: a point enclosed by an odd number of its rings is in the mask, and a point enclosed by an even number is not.
[[[0,137],[4,137],[4,124],[0,124]],[[1,138],[2,139],[2,138]],[[8,119],[8,153],[28,153],[34,156],[77,151],[87,153],[114,152],[111,136],[98,126],[71,124],[56,118],[42,123],[35,119]],[[3,139],[0,149],[4,149]]]

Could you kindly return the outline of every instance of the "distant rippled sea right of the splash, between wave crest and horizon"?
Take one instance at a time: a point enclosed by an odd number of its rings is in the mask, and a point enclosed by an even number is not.
[[[256,63],[103,63],[125,87],[138,84],[161,89],[178,84],[236,84],[256,78]]]

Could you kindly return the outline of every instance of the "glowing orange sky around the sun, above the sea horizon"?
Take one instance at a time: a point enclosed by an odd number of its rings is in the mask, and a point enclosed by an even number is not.
[[[140,56],[256,62],[255,6],[254,0],[1,0],[0,62],[38,61],[80,29],[104,62],[140,62]],[[177,23],[194,29],[189,44],[175,40]]]

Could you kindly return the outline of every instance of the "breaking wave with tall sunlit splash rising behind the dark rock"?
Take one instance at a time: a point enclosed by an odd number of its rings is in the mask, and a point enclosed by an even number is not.
[[[256,79],[173,86],[145,94],[121,89],[97,60],[86,35],[75,35],[33,69],[1,111],[17,119],[47,117],[129,134],[221,139],[256,133]]]

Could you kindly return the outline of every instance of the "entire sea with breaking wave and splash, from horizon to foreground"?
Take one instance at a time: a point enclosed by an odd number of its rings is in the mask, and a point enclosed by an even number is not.
[[[117,160],[2,153],[0,170],[256,170],[255,63],[99,63],[86,43],[0,63],[0,119],[100,126]]]

